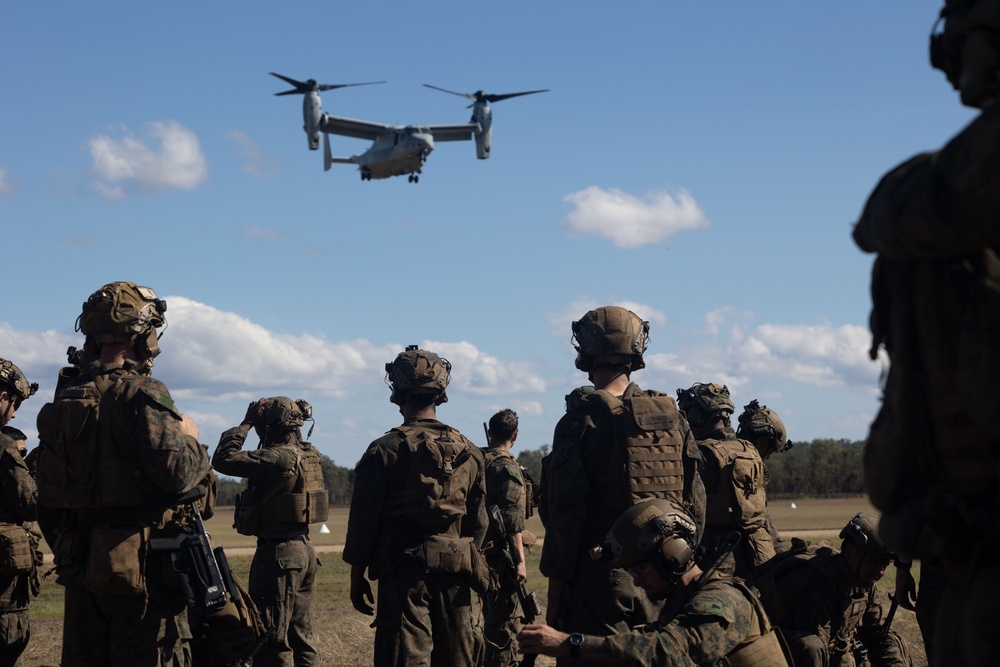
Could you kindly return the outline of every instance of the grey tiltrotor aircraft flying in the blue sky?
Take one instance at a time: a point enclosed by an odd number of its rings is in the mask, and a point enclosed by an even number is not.
[[[274,72],[271,72],[271,75],[294,86],[291,90],[275,93],[275,95],[305,96],[302,100],[302,118],[305,121],[302,129],[305,130],[309,139],[311,150],[319,148],[319,135],[323,135],[323,169],[329,170],[330,166],[334,164],[356,164],[363,181],[406,174],[411,183],[418,182],[424,162],[434,150],[434,142],[436,141],[468,141],[475,138],[476,157],[485,160],[490,156],[493,135],[493,112],[490,109],[490,102],[548,91],[548,89],[529,90],[505,95],[487,95],[479,90],[472,94],[465,94],[425,83],[424,85],[428,88],[472,100],[472,104],[469,105],[472,109],[472,118],[469,122],[462,125],[383,125],[382,123],[342,118],[323,113],[319,94],[321,91],[347,86],[367,86],[372,83],[385,83],[384,81],[328,85],[317,84],[314,79],[303,82]],[[372,145],[371,148],[359,155],[334,157],[330,152],[331,134],[368,139]]]

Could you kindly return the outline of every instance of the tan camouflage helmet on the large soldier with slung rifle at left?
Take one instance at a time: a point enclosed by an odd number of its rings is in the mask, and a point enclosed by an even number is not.
[[[136,341],[139,356],[150,359],[160,353],[156,330],[166,324],[166,312],[167,302],[149,287],[108,283],[83,304],[76,330],[96,346]]]

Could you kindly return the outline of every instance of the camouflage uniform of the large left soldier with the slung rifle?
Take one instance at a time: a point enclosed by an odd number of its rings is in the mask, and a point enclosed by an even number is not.
[[[58,523],[43,525],[47,535],[57,536],[50,544],[58,552],[59,583],[66,586],[62,664],[189,665],[191,629],[184,594],[170,556],[150,551],[148,539],[170,535],[175,507],[164,499],[203,482],[209,474],[208,455],[195,438],[182,433],[181,416],[162,382],[140,375],[129,362],[124,367],[95,362],[84,372],[113,382],[98,421],[97,490],[106,502],[100,509],[48,512],[49,520]],[[41,414],[39,422],[42,431]],[[116,471],[126,471],[128,477],[116,476]],[[41,476],[40,467],[40,485]],[[40,520],[46,515],[40,512]],[[91,561],[113,546],[119,566],[138,568],[125,575],[138,579],[92,580],[97,575]]]

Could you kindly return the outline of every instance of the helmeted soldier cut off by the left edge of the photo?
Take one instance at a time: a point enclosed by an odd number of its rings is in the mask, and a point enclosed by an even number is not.
[[[36,518],[38,490],[22,458],[24,433],[7,425],[37,390],[20,368],[0,359],[0,667],[14,667],[27,647],[28,603],[39,591],[38,538],[29,523]]]

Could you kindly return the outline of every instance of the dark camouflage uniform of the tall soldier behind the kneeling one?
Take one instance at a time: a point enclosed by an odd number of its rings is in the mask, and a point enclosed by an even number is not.
[[[623,396],[642,393],[630,383]],[[542,479],[546,510],[540,568],[546,577],[564,582],[560,629],[609,635],[654,621],[659,607],[632,583],[627,572],[590,557],[590,550],[604,543],[630,503],[620,493],[628,488],[626,473],[612,465],[616,450],[622,447],[616,440],[614,417],[591,400],[595,395],[588,395],[555,428]],[[684,442],[681,500],[701,528],[705,518],[705,487],[698,471],[702,456],[686,420],[679,412],[676,415]],[[560,660],[560,664],[569,663]]]

